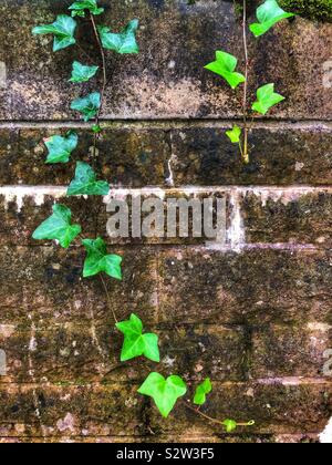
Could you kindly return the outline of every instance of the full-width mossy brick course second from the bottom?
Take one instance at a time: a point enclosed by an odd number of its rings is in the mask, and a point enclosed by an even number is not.
[[[276,380],[286,385],[329,381],[324,366],[329,369],[332,327],[328,324],[264,326],[253,328],[251,335],[246,327],[214,323],[144,327],[159,337],[159,371],[181,373],[190,381],[207,376],[243,381],[249,374],[263,384]],[[0,349],[7,355],[7,374],[0,376],[0,384],[143,382],[154,363],[146,359],[121,363],[123,337],[113,328],[111,322],[53,323],[49,329],[43,321],[33,321],[25,329],[20,322],[1,324]]]

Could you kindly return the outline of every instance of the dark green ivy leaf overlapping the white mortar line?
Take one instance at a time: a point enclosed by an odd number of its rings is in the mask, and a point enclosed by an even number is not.
[[[108,193],[108,183],[97,180],[96,174],[87,163],[77,162],[75,177],[69,186],[66,195],[107,195]]]

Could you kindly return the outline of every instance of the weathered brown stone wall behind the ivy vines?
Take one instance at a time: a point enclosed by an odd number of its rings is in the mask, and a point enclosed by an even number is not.
[[[276,82],[287,101],[255,121],[245,166],[225,136],[240,100],[203,69],[216,49],[242,56],[232,2],[101,2],[114,29],[141,19],[142,53],[107,56],[100,172],[136,193],[222,193],[230,218],[219,250],[110,244],[124,256],[112,304],[159,333],[160,372],[212,379],[207,413],[256,420],[226,435],[183,406],[163,420],[136,394],[155,365],[120,364],[102,286],[81,278],[82,250],[31,239],[74,169],[44,165],[42,138],[75,128],[74,159],[91,158],[89,127],[69,110],[81,86],[66,82],[84,54],[52,54],[51,38],[31,35],[69,3],[0,1],[0,442],[317,441],[332,410],[331,24],[297,18],[250,38],[250,94]],[[86,25],[80,35],[94,54]],[[102,200],[62,202],[87,234],[105,235]]]

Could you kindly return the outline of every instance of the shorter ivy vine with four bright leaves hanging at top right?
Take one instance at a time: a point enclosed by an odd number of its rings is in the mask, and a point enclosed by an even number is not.
[[[245,50],[245,74],[236,72],[238,60],[236,56],[226,51],[217,51],[217,60],[207,64],[205,68],[215,74],[224,78],[231,89],[237,89],[243,84],[243,124],[242,127],[235,125],[230,131],[226,132],[227,137],[232,144],[239,146],[242,161],[248,164],[250,162],[248,135],[250,124],[248,123],[250,113],[248,108],[248,79],[249,79],[249,52],[248,52],[248,37],[247,37],[247,0],[242,0],[243,8],[243,50]],[[258,22],[249,25],[250,31],[256,38],[267,33],[273,25],[282,20],[294,17],[294,13],[289,13],[280,8],[277,0],[264,0],[257,8]],[[274,92],[274,84],[268,83],[257,90],[257,101],[252,103],[252,117],[256,114],[266,115],[273,106],[284,101],[284,96]]]

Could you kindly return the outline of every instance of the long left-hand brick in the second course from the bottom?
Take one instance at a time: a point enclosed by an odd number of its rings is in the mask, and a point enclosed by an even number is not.
[[[137,312],[139,316],[139,312]],[[126,316],[128,317],[128,316]],[[7,354],[7,376],[0,383],[143,382],[156,364],[144,358],[120,362],[123,338],[110,323],[61,324],[28,331],[0,327],[0,349]],[[184,326],[146,331],[159,335],[162,372],[191,381],[207,376],[241,381],[245,375],[245,334],[241,328]]]

